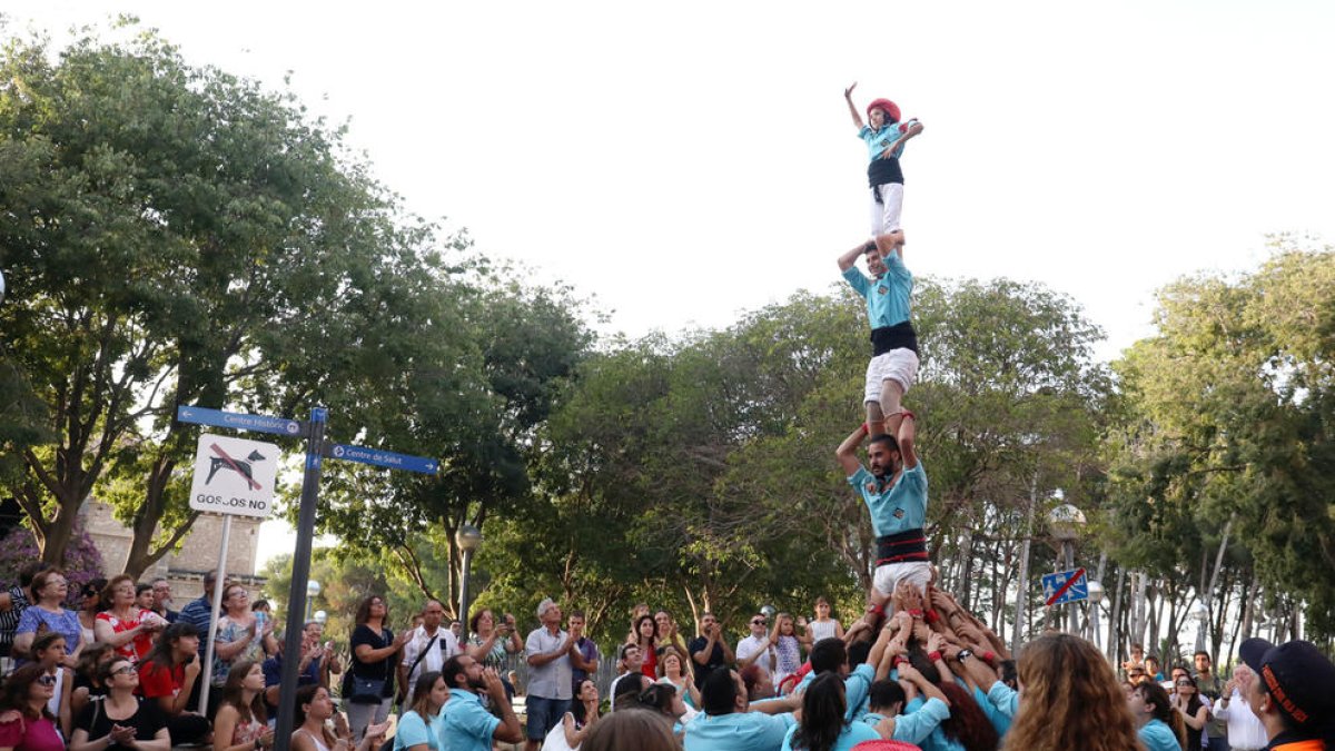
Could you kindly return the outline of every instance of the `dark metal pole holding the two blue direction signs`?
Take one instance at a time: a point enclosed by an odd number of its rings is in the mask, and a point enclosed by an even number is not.
[[[315,505],[320,493],[320,462],[324,456],[324,428],[328,409],[311,410],[306,433],[306,474],[302,478],[302,509],[296,522],[296,549],[292,551],[292,583],[287,593],[287,633],[283,636],[283,679],[279,684],[278,724],[274,748],[287,751],[296,719],[296,679],[302,657],[302,615],[306,612],[306,580],[311,577],[311,545],[315,539]],[[326,657],[328,659],[328,657]]]

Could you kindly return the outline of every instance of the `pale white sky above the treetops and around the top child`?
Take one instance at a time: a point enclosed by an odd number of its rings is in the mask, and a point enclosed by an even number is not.
[[[860,107],[885,96],[925,126],[902,158],[909,269],[1065,293],[1108,359],[1152,333],[1163,285],[1246,273],[1276,233],[1335,238],[1322,0],[0,11],[57,40],[128,12],[194,64],[275,90],[290,73],[410,210],[630,337],[837,282],[868,231],[853,82]]]

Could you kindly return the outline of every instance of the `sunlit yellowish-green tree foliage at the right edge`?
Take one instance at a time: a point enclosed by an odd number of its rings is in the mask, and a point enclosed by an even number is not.
[[[1254,561],[1272,609],[1302,604],[1314,628],[1335,632],[1335,254],[1282,238],[1250,274],[1161,290],[1156,325],[1116,363],[1120,553],[1206,591],[1234,518],[1240,549],[1226,564]],[[1226,576],[1220,589],[1248,579]]]

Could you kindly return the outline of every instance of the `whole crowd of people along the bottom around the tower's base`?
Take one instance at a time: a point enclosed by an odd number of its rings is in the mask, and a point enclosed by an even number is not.
[[[267,603],[224,580],[215,613],[215,584],[176,612],[167,581],[115,576],[69,609],[60,569],[20,572],[0,595],[0,751],[263,751],[283,702],[300,751],[1335,748],[1335,667],[1307,641],[1250,639],[1227,679],[1207,652],[1160,664],[1139,645],[1115,669],[1064,633],[1012,659],[949,595],[908,581],[846,627],[818,600],[810,619],[752,613],[736,639],[713,613],[688,639],[670,612],[637,607],[606,692],[583,612],[543,600],[522,636],[489,609],[463,631],[429,600],[395,632],[370,596],[343,660],[306,624],[292,696]]]

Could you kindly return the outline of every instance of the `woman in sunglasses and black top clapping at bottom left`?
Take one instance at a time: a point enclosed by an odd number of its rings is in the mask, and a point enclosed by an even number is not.
[[[69,751],[103,751],[125,746],[136,751],[170,751],[167,720],[155,702],[135,695],[139,668],[125,657],[104,663],[100,671],[107,696],[89,702],[75,718]]]

